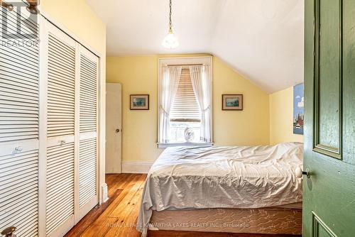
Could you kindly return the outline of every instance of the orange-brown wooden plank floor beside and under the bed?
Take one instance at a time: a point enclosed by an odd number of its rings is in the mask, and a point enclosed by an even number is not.
[[[136,220],[146,175],[107,175],[109,201],[96,206],[65,236],[129,236],[139,237]],[[240,233],[201,233],[187,231],[148,231],[148,237],[287,237]],[[294,236],[293,236],[294,237]]]

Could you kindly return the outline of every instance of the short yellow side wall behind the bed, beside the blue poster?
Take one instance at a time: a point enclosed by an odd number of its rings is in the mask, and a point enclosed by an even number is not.
[[[303,142],[293,134],[293,87],[270,94],[270,143]]]

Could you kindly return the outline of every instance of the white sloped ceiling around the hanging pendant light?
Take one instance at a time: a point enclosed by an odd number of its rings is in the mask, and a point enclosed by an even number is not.
[[[303,82],[303,0],[173,0],[180,46],[166,50],[168,0],[87,0],[107,55],[211,53],[266,92]]]

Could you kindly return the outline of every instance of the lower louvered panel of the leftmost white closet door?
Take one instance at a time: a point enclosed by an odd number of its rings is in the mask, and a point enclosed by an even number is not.
[[[0,157],[0,229],[38,236],[38,150]]]

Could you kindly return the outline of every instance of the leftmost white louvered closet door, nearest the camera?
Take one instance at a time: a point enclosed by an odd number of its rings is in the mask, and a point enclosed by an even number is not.
[[[15,33],[16,9],[0,7],[1,40]],[[21,34],[37,34],[27,21]],[[23,35],[20,35],[23,37]],[[17,39],[18,40],[18,39]],[[18,236],[38,236],[38,45],[0,46],[0,231],[16,226]]]

